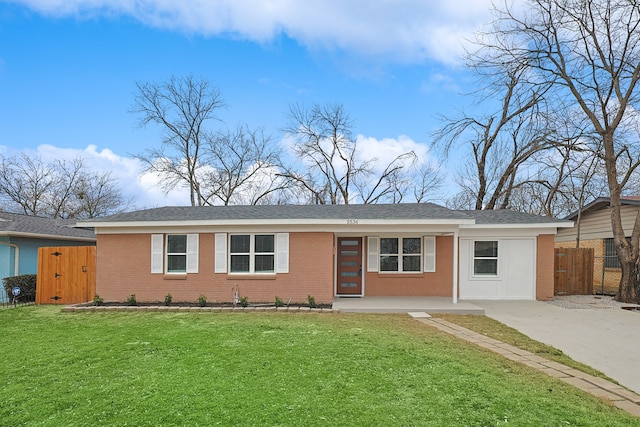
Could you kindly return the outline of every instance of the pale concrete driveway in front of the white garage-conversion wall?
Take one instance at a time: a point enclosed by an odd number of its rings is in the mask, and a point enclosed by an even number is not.
[[[640,311],[623,310],[615,302],[607,308],[560,302],[473,301],[487,316],[640,393]]]

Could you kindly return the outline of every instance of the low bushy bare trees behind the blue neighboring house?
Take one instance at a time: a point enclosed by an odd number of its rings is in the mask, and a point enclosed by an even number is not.
[[[27,154],[0,157],[0,200],[7,211],[84,219],[127,206],[110,173],[92,172],[80,158],[47,163]]]

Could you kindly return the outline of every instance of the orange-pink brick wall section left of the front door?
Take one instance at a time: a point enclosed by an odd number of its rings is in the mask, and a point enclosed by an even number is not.
[[[249,302],[306,302],[307,295],[318,303],[333,300],[333,234],[291,233],[289,273],[265,276],[237,276],[214,273],[214,234],[199,237],[198,273],[151,274],[149,234],[97,236],[96,293],[105,300],[124,301],[135,294],[140,302],[163,301],[171,293],[174,301],[195,302],[200,295],[208,301],[233,300],[233,288]]]

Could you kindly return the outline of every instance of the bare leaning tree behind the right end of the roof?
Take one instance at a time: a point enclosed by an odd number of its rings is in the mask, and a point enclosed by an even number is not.
[[[556,143],[544,111],[547,87],[530,85],[522,66],[499,64],[488,68],[474,56],[470,56],[469,64],[483,77],[489,77],[487,91],[500,100],[500,107],[489,115],[445,118],[446,125],[435,133],[433,146],[445,158],[454,147],[466,146],[470,150],[456,177],[466,194],[458,195],[453,205],[505,209],[510,207],[514,191],[538,179],[523,169],[536,154]],[[487,99],[491,100],[482,101]]]

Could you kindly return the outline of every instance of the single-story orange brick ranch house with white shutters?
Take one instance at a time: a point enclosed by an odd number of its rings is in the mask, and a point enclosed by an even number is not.
[[[553,298],[570,222],[431,203],[163,207],[80,223],[105,300],[330,303],[341,296]]]

